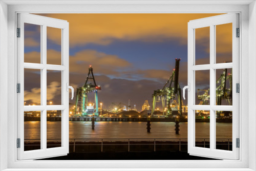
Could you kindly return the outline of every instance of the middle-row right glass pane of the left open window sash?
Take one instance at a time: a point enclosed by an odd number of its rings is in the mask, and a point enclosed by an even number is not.
[[[61,104],[61,71],[47,70],[47,105]]]

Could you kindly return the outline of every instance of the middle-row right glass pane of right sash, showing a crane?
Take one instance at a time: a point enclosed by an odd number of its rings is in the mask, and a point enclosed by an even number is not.
[[[232,69],[216,70],[216,105],[232,105]]]

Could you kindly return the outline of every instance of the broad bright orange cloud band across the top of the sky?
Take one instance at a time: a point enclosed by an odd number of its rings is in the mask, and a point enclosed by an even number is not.
[[[70,46],[87,44],[109,45],[116,39],[126,41],[163,41],[178,38],[187,44],[187,23],[220,14],[39,14],[67,20],[70,26]],[[230,30],[220,29],[221,35]],[[60,36],[48,32],[49,38],[59,42]],[[205,31],[198,39],[209,36]],[[225,36],[222,38],[226,38]],[[227,41],[225,41],[227,42]],[[223,49],[225,51],[225,49]]]

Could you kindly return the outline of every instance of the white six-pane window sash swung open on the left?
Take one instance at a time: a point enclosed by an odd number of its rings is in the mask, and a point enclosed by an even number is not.
[[[24,24],[40,26],[40,63],[24,62]],[[61,29],[61,65],[47,64],[47,27]],[[19,30],[20,29],[20,30]],[[50,46],[50,45],[48,45]],[[24,69],[40,71],[40,105],[24,105]],[[61,105],[47,105],[47,70],[61,72]],[[69,23],[33,14],[17,14],[17,159],[33,160],[69,153]],[[47,111],[61,111],[61,146],[47,148]],[[40,148],[24,149],[24,112],[40,111]]]

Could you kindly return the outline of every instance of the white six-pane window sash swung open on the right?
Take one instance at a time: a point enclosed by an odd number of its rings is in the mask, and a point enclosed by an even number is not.
[[[216,63],[216,26],[232,23],[232,62]],[[210,62],[206,65],[196,65],[195,44],[196,32],[198,28],[209,27],[209,56]],[[216,158],[216,159],[239,159],[239,148],[236,141],[239,138],[239,93],[236,93],[236,83],[239,83],[239,14],[223,14],[202,19],[191,20],[188,23],[188,153],[194,156]],[[241,37],[241,34],[240,34]],[[216,104],[216,70],[232,69],[232,105]],[[210,102],[209,105],[196,104],[196,71],[208,70],[210,73]],[[230,85],[230,87],[231,87]],[[209,148],[198,147],[196,141],[196,111],[210,111],[210,135]],[[216,148],[216,112],[232,111],[232,148],[226,151]],[[197,130],[198,131],[198,130]],[[225,131],[225,130],[223,130]],[[241,142],[241,141],[240,141]],[[231,142],[230,142],[231,143]]]

